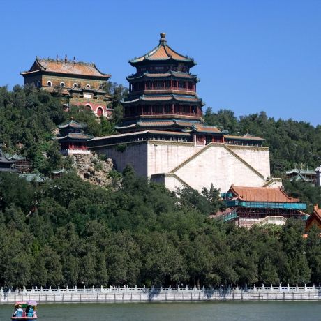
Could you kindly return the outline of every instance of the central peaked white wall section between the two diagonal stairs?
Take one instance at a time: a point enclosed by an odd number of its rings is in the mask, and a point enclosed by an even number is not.
[[[255,153],[255,151],[253,151]],[[203,187],[221,188],[226,192],[232,184],[237,186],[263,186],[265,179],[242,163],[222,144],[205,147],[204,152],[174,172],[189,186],[202,191]]]

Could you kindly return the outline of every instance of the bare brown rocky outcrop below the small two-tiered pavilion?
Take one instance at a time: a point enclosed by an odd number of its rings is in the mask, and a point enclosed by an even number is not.
[[[70,157],[73,159],[73,165],[76,167],[78,175],[85,181],[100,186],[112,184],[109,173],[112,171],[113,164],[110,158],[100,160],[96,154],[75,154]]]

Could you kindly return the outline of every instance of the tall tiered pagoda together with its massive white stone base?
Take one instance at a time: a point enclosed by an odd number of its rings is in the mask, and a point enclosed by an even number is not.
[[[95,137],[89,149],[112,158],[117,170],[132,165],[140,176],[171,190],[281,184],[270,177],[263,138],[231,136],[204,124],[199,80],[191,73],[196,63],[173,50],[165,33],[154,49],[129,63],[135,73],[127,77],[129,94],[122,102],[119,134]]]

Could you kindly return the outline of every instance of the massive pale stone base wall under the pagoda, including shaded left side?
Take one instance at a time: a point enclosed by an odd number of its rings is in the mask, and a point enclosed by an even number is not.
[[[197,191],[211,184],[222,192],[232,184],[259,187],[270,175],[269,150],[262,147],[226,147],[213,143],[197,147],[187,142],[150,140],[127,143],[123,152],[117,151],[117,146],[97,152],[112,158],[119,171],[130,164],[140,176],[167,174],[152,179],[172,191],[185,184]]]

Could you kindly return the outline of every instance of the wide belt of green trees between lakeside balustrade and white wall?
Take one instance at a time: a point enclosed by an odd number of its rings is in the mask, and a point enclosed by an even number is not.
[[[0,286],[228,285],[321,282],[321,239],[304,224],[209,220],[217,191],[181,191],[135,177],[117,190],[70,173],[34,186],[0,175]],[[211,192],[211,193],[210,193]]]

